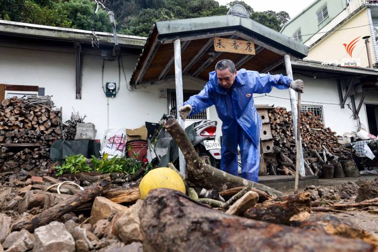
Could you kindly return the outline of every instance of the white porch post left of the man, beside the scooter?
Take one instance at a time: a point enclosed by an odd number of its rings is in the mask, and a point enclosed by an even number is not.
[[[182,75],[182,66],[181,66],[181,43],[180,39],[176,39],[173,42],[174,56],[175,56],[175,82],[176,82],[176,112],[177,112],[177,121],[185,129],[184,121],[180,117],[179,109],[183,106],[184,95],[183,95],[183,75]],[[185,177],[186,174],[186,165],[184,155],[179,148],[179,162],[180,162],[180,172]]]

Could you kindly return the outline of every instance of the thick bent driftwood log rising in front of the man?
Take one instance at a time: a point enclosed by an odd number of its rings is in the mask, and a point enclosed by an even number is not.
[[[205,164],[194,150],[188,135],[173,118],[164,123],[165,129],[171,134],[184,154],[187,163],[187,179],[197,187],[224,191],[234,187],[248,186],[269,193],[272,196],[282,196],[282,193],[268,186],[231,175],[225,171]]]

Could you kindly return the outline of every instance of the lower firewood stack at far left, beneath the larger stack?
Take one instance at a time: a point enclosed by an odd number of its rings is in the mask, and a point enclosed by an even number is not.
[[[12,171],[14,168],[26,170],[33,169],[35,172],[45,172],[51,168],[53,162],[50,159],[50,148],[32,147],[13,151],[7,147],[0,148],[0,166],[2,171]]]

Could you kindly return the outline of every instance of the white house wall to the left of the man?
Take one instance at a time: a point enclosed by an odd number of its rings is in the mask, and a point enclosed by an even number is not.
[[[82,99],[75,99],[75,55],[73,48],[64,53],[53,48],[18,49],[0,45],[0,83],[15,85],[38,85],[45,88],[46,95],[53,95],[56,107],[63,107],[63,121],[71,116],[72,108],[86,122],[93,122],[97,139],[102,139],[108,128],[107,97],[102,87],[102,57],[85,52],[82,57]],[[7,45],[8,46],[8,45]],[[137,55],[123,56],[127,82],[137,62]],[[104,83],[118,80],[118,62],[105,61]],[[185,89],[200,90],[202,84],[184,80]],[[150,86],[129,91],[121,70],[120,90],[115,98],[109,98],[109,128],[137,128],[145,121],[158,122],[167,113],[167,100],[159,99],[159,88],[174,88],[174,83]],[[212,109],[210,109],[210,114]]]

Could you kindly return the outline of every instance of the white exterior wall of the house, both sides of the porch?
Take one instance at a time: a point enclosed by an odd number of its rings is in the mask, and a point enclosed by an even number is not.
[[[12,46],[14,47],[14,46]],[[31,50],[32,49],[32,50]],[[52,48],[18,49],[0,45],[0,83],[18,85],[38,85],[45,88],[46,95],[54,95],[56,107],[63,107],[63,121],[70,118],[72,108],[82,115],[86,122],[93,122],[98,130],[97,139],[102,139],[108,128],[107,97],[102,87],[102,57],[93,52],[84,51],[82,64],[82,99],[75,99],[75,55],[73,48],[53,50]],[[37,50],[36,50],[37,49]],[[55,51],[55,52],[52,52]],[[56,52],[64,51],[64,52]],[[129,82],[138,56],[123,56],[127,82]],[[303,79],[305,92],[302,104],[317,105],[311,102],[339,103],[336,80],[313,79],[295,74],[296,79]],[[105,61],[104,83],[118,80],[117,61]],[[149,86],[129,91],[121,71],[120,90],[115,98],[109,98],[109,128],[137,128],[145,121],[158,122],[163,113],[167,113],[167,100],[159,99],[159,88],[174,88],[174,82]],[[184,78],[184,89],[200,90],[205,82],[199,83]],[[273,89],[272,96],[289,98],[288,90]],[[259,94],[255,94],[260,96]],[[358,106],[360,95],[357,97]],[[366,103],[378,104],[378,92],[369,91]],[[290,109],[289,100],[273,97],[256,97],[255,104],[268,104]],[[349,103],[349,99],[347,104]],[[357,122],[352,119],[351,111],[340,109],[339,105],[322,104],[324,120],[337,134],[356,131]],[[209,108],[209,119],[218,121],[217,136],[221,135],[221,122],[216,110]],[[360,112],[361,123],[367,127],[365,106]],[[187,121],[186,124],[190,124]]]

